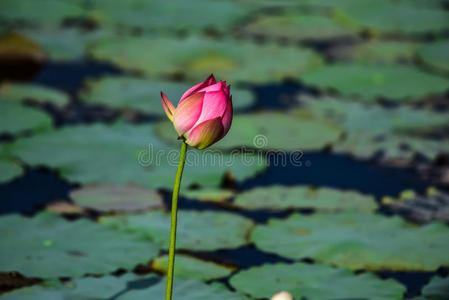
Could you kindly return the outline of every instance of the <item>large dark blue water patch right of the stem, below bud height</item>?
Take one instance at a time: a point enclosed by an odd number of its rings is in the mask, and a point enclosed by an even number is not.
[[[424,192],[432,185],[411,169],[356,160],[347,155],[306,152],[301,158],[301,166],[272,164],[267,172],[247,180],[239,188],[245,190],[272,184],[352,189],[377,198],[396,196],[404,189]]]

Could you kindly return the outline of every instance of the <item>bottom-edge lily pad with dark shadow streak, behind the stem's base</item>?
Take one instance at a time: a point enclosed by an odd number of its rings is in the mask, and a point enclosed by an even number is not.
[[[165,278],[156,275],[139,277],[125,274],[120,277],[86,277],[66,284],[49,283],[12,291],[1,300],[148,300],[165,297]],[[194,280],[175,280],[173,299],[183,300],[245,300],[244,295],[229,291],[222,284],[208,285]]]

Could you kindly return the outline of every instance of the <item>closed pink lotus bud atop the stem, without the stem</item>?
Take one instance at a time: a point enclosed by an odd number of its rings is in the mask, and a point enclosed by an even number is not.
[[[210,75],[182,95],[178,107],[161,92],[162,106],[180,138],[187,144],[204,149],[221,140],[232,123],[231,86],[215,81]]]

